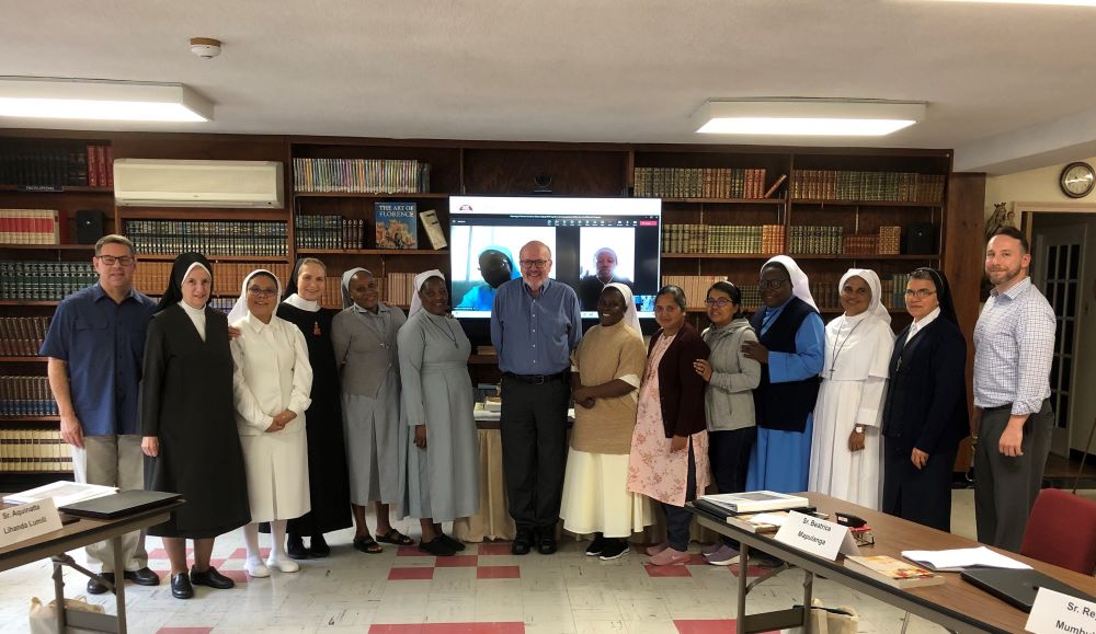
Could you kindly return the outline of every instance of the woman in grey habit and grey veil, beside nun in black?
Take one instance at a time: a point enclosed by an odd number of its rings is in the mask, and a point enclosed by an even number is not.
[[[380,301],[373,273],[352,268],[342,276],[343,311],[331,324],[331,343],[342,379],[343,431],[354,510],[354,547],[381,552],[378,540],[413,545],[392,528],[390,506],[406,509],[403,470],[407,425],[400,425],[400,359],[396,334],[407,318]],[[377,504],[377,538],[369,534],[365,508]]]

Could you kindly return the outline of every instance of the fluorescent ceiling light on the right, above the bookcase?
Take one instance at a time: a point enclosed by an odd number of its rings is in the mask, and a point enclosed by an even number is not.
[[[715,135],[881,137],[925,118],[922,102],[833,99],[708,100],[692,120]]]

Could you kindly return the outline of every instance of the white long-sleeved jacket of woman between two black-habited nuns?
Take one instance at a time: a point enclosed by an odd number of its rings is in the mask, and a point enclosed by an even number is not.
[[[236,423],[241,435],[266,431],[274,416],[286,410],[297,417],[285,433],[305,431],[305,410],[311,404],[312,367],[305,335],[296,325],[271,316],[264,324],[250,312],[232,324],[240,336],[232,339],[232,388]]]

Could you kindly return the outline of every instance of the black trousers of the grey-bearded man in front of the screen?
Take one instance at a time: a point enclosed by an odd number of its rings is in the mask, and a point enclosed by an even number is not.
[[[567,378],[541,384],[502,378],[502,469],[518,531],[559,523],[570,399]]]

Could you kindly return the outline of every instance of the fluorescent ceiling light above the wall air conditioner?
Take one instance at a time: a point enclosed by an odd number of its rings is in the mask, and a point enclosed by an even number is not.
[[[0,77],[0,117],[208,122],[213,103],[181,83]]]

